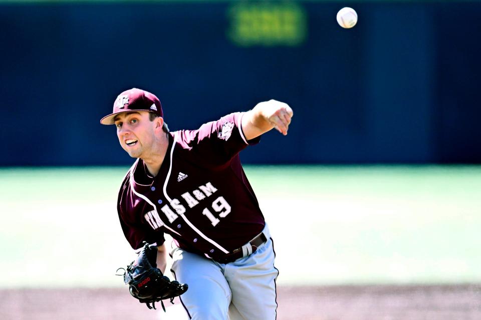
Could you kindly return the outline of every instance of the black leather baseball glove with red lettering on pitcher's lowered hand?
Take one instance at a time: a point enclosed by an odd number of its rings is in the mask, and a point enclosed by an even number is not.
[[[180,284],[178,281],[170,279],[162,274],[157,268],[157,247],[144,241],[144,246],[137,259],[127,265],[124,270],[124,282],[129,285],[130,294],[137,298],[140,303],[146,303],[149,309],[155,309],[155,302],[161,301],[162,309],[165,311],[163,299],[170,299],[173,304],[174,297],[187,291],[186,283]],[[152,303],[152,306],[150,305]]]

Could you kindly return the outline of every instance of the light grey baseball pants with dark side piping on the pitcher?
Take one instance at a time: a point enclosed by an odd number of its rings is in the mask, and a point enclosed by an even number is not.
[[[188,290],[180,300],[195,320],[275,320],[277,315],[274,247],[269,228],[267,241],[256,252],[224,264],[174,248],[172,274]]]

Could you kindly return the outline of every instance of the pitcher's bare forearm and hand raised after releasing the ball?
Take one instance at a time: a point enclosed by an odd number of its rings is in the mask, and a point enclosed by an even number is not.
[[[272,128],[287,135],[292,116],[292,108],[284,102],[276,100],[260,102],[252,110],[244,113],[242,131],[247,140],[254,139]]]

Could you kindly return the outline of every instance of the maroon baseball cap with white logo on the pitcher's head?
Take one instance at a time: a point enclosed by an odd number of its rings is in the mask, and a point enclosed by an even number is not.
[[[164,116],[160,100],[152,93],[132,88],[120,93],[114,102],[114,110],[100,119],[102,124],[114,124],[114,117],[123,112],[150,111],[158,116]]]

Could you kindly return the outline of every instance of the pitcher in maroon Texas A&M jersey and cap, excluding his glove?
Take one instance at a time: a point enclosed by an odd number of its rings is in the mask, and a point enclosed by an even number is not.
[[[159,99],[133,88],[113,112],[122,148],[137,158],[120,187],[117,210],[133,249],[174,239],[172,274],[188,283],[180,300],[192,319],[276,318],[273,240],[239,151],[276,128],[286,135],[293,110],[276,100],[227,114],[196,130],[169,132]]]

